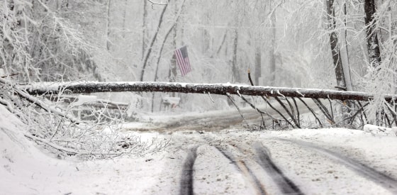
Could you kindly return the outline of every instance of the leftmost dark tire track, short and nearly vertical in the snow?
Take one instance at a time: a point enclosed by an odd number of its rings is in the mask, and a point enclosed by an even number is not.
[[[198,146],[199,145],[191,147],[184,161],[184,165],[182,167],[182,175],[181,175],[181,188],[179,189],[179,194],[181,195],[194,194],[193,172],[194,172],[194,162],[196,161],[196,157],[197,157]]]

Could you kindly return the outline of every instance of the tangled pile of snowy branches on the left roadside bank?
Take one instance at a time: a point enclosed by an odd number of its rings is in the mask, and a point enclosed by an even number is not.
[[[49,103],[44,96],[31,96],[9,80],[0,78],[0,104],[16,114],[28,127],[24,135],[57,157],[77,156],[81,159],[145,155],[162,150],[169,140],[141,142],[140,137],[120,133],[123,118],[111,118],[106,108],[91,110],[95,121],[79,121],[72,106],[62,100]]]

